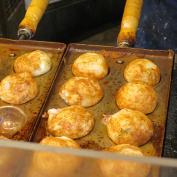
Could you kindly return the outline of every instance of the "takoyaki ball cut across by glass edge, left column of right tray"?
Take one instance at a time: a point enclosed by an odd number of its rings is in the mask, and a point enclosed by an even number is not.
[[[78,149],[79,145],[72,139],[67,137],[47,137],[40,144],[54,146],[58,148]],[[35,152],[32,164],[29,168],[29,176],[70,176],[79,168],[81,160],[79,157],[52,152]],[[32,175],[32,174],[33,175]]]

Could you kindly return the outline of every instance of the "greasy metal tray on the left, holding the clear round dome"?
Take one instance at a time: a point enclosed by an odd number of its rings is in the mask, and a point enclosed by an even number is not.
[[[39,77],[35,77],[38,83],[39,93],[33,100],[22,104],[15,105],[25,112],[27,122],[20,132],[15,134],[11,139],[30,140],[35,125],[41,116],[44,103],[48,97],[52,80],[54,79],[57,68],[65,51],[65,44],[50,43],[39,41],[15,41],[0,39],[0,80],[5,76],[14,73],[13,63],[16,57],[34,50],[43,50],[52,54],[52,69]],[[0,106],[10,105],[0,100]]]

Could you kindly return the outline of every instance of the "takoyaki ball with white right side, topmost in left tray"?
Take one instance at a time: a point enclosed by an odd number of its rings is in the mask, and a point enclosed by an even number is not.
[[[33,76],[40,76],[47,73],[52,66],[52,61],[44,51],[35,50],[18,57],[14,62],[16,73],[30,72]]]

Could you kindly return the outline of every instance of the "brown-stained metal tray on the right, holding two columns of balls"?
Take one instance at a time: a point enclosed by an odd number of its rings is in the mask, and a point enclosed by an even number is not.
[[[114,145],[107,136],[106,126],[102,123],[103,114],[113,114],[119,109],[115,103],[115,93],[126,81],[123,71],[127,63],[135,58],[147,58],[156,63],[161,70],[161,81],[155,87],[158,93],[158,106],[155,111],[148,115],[153,121],[155,132],[149,143],[142,146],[146,155],[161,156],[167,118],[169,92],[171,84],[171,74],[173,68],[174,52],[156,51],[145,49],[116,48],[106,46],[94,46],[84,44],[70,44],[60,65],[54,88],[51,92],[45,111],[50,108],[62,108],[67,106],[58,95],[58,88],[69,78],[73,77],[71,66],[74,60],[85,52],[98,52],[106,58],[110,72],[107,77],[100,81],[105,95],[100,103],[87,108],[95,116],[94,130],[87,136],[78,139],[77,142],[82,148],[101,150],[105,147]],[[122,61],[122,62],[120,62]],[[122,63],[122,64],[120,64]],[[39,128],[33,141],[38,142],[47,135],[46,119],[41,118]]]

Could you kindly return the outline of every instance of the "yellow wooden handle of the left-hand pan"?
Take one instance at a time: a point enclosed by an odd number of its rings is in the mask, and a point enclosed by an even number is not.
[[[19,39],[31,39],[36,32],[49,0],[32,0],[18,30]]]

